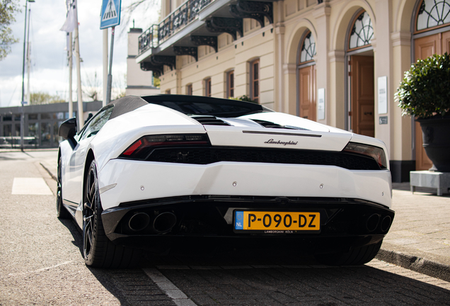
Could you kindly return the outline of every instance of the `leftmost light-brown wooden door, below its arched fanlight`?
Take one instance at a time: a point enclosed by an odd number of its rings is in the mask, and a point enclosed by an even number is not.
[[[316,65],[299,69],[300,117],[316,121]]]

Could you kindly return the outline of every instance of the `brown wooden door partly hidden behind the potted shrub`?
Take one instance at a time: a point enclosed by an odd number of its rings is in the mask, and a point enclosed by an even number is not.
[[[449,33],[449,32],[447,32]],[[415,62],[424,60],[434,54],[441,54],[442,34],[438,33],[425,38],[418,38],[414,41]],[[448,43],[447,43],[448,45]],[[448,46],[447,46],[448,47]],[[416,171],[428,170],[433,165],[427,157],[425,149],[422,146],[422,129],[419,123],[415,123],[415,169]]]

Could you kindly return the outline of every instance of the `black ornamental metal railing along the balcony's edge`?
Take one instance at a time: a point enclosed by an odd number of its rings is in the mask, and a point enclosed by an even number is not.
[[[207,7],[214,0],[188,0],[178,6],[158,25],[151,26],[139,36],[139,55],[149,50],[151,47],[158,47],[179,30],[188,26],[189,23],[197,19],[203,8]]]

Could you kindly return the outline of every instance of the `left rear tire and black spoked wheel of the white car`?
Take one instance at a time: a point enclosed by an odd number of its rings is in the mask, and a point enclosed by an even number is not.
[[[96,162],[92,161],[83,195],[83,256],[86,266],[95,268],[131,268],[139,263],[141,251],[113,244],[106,237],[98,191]]]

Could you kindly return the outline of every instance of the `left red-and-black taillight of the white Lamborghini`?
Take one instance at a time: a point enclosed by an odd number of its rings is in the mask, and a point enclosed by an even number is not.
[[[173,147],[183,145],[209,145],[206,134],[186,135],[149,135],[144,136],[128,147],[120,157],[129,159],[146,159],[156,147]]]

